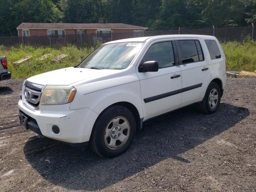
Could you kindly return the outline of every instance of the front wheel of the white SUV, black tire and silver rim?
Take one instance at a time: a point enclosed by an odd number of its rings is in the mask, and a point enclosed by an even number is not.
[[[132,112],[123,106],[110,106],[94,123],[90,147],[102,157],[113,158],[129,148],[135,132],[136,122]]]

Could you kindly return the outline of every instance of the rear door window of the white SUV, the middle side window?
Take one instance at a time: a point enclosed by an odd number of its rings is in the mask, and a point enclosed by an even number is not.
[[[204,54],[198,40],[178,40],[182,64],[204,60]]]

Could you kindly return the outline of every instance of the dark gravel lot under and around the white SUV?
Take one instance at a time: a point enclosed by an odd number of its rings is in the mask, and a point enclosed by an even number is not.
[[[0,82],[0,192],[255,191],[256,78],[227,78],[220,108],[149,120],[113,159],[19,126],[22,79]]]

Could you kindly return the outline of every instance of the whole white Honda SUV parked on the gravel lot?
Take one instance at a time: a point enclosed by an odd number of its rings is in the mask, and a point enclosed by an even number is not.
[[[104,157],[122,154],[142,122],[198,103],[218,109],[226,83],[224,52],[213,36],[166,35],[103,44],[74,67],[28,78],[21,124]]]

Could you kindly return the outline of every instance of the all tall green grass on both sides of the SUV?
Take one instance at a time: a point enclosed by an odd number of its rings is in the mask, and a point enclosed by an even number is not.
[[[223,42],[222,48],[226,55],[227,71],[250,71],[256,70],[256,42],[245,40],[244,42]],[[93,48],[84,50],[78,49],[75,46],[69,45],[61,49],[54,48],[34,48],[25,46],[20,48],[6,49],[0,45],[0,56],[6,56],[8,60],[8,70],[12,72],[12,78],[28,78],[30,76],[43,72],[56,70],[74,66],[80,62],[80,56],[87,56],[92,52]],[[38,61],[38,57],[44,54],[52,54],[45,60]],[[60,54],[67,54],[59,63],[50,63],[50,60]],[[24,56],[31,56],[30,60],[13,66],[12,62],[19,60]]]

